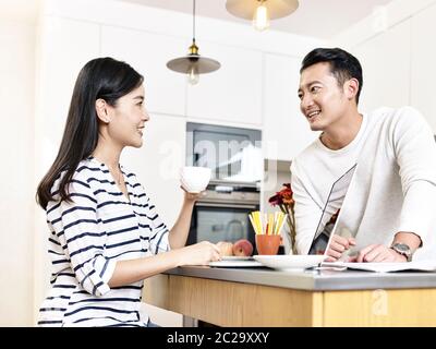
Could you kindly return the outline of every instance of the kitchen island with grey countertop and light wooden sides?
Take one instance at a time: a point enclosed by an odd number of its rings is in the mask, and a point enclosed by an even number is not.
[[[436,326],[436,273],[179,267],[144,301],[219,326]]]

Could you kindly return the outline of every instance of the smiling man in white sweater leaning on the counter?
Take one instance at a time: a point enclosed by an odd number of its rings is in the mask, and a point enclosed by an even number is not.
[[[291,166],[299,253],[308,253],[323,212],[326,224],[340,208],[351,236],[334,234],[329,261],[350,248],[356,262],[435,258],[436,143],[423,117],[411,107],[360,113],[362,68],[339,48],[311,51],[300,73],[301,111],[320,135]],[[354,166],[346,198],[326,205]]]

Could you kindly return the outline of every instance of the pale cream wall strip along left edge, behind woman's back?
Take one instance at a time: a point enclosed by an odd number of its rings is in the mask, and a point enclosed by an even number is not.
[[[33,19],[2,16],[2,10],[0,7],[0,326],[31,326],[35,24]]]

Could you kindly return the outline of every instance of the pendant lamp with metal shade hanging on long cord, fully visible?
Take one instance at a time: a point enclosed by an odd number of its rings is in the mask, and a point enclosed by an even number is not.
[[[195,85],[198,83],[199,74],[214,72],[221,67],[218,61],[198,55],[198,46],[195,44],[195,0],[193,0],[192,27],[192,45],[189,48],[187,56],[170,60],[167,67],[174,72],[186,74],[189,83]]]

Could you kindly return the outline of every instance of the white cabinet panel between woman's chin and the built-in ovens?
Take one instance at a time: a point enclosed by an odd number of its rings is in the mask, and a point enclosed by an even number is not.
[[[179,173],[185,164],[185,129],[184,118],[150,115],[143,146],[125,148],[122,156],[122,164],[136,173],[168,228],[175,222],[183,202]]]

